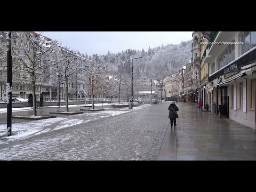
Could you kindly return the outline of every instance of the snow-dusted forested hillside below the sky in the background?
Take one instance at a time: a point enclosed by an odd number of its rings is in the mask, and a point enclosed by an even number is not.
[[[110,75],[114,74],[120,66],[125,73],[131,73],[132,58],[143,57],[133,60],[133,75],[137,79],[150,78],[152,73],[154,79],[163,79],[178,71],[182,65],[186,65],[191,59],[192,41],[181,42],[178,45],[166,45],[148,47],[148,50],[127,49],[121,53],[110,53],[106,55],[93,54],[95,61],[109,66]],[[87,55],[86,55],[87,57]],[[92,59],[89,57],[89,59]],[[119,66],[119,67],[118,67]]]

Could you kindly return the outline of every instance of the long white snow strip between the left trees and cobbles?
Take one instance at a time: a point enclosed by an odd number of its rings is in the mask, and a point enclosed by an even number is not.
[[[101,105],[101,103],[99,103]],[[74,105],[76,106],[76,105]],[[98,111],[97,113],[84,113],[84,114],[79,114],[79,115],[74,115],[68,117],[57,117],[57,118],[49,118],[49,119],[41,119],[38,121],[31,121],[31,122],[22,122],[22,123],[14,123],[12,124],[12,135],[11,136],[6,136],[6,124],[5,125],[0,125],[0,144],[1,143],[6,143],[6,141],[3,141],[2,138],[8,139],[8,141],[12,140],[17,140],[17,139],[23,139],[27,137],[31,137],[33,135],[38,135],[50,130],[59,130],[65,127],[69,126],[74,126],[82,123],[87,123],[90,121],[94,121],[100,118],[105,118],[105,117],[110,117],[110,116],[115,116],[123,113],[128,113],[134,110],[142,109],[145,108],[148,105],[143,105],[143,106],[138,106],[138,107],[133,107],[133,109],[129,109],[127,107],[125,108],[119,108],[118,110],[102,110]],[[65,106],[64,106],[65,107]],[[17,108],[13,108],[15,111]],[[18,108],[20,110],[32,110],[31,107],[28,108]],[[1,110],[1,109],[0,109]],[[6,109],[5,109],[6,110]],[[2,112],[4,112],[2,110]],[[6,113],[6,111],[5,111]],[[83,119],[77,119],[75,118],[76,116],[87,116],[87,120]],[[56,127],[52,127],[52,124],[56,124]],[[48,127],[47,127],[48,126]],[[2,141],[1,141],[2,140]]]

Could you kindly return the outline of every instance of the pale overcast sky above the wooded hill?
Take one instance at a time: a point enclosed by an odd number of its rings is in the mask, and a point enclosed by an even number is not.
[[[148,50],[169,44],[179,44],[192,39],[192,31],[44,31],[51,39],[59,40],[62,46],[68,45],[88,55],[118,53],[127,49]]]

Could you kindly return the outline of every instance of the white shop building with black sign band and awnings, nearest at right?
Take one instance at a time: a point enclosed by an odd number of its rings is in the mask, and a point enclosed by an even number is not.
[[[212,112],[255,129],[256,31],[218,31],[207,46]]]

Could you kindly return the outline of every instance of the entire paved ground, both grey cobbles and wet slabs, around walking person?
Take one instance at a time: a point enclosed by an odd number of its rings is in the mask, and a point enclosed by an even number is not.
[[[105,111],[58,115],[52,123],[39,120],[41,129],[31,135],[0,137],[0,160],[256,160],[255,130],[186,102],[177,103],[179,118],[171,130],[169,105],[137,110],[106,106]],[[45,107],[38,114],[49,111],[56,109]],[[6,131],[5,118],[1,113],[1,134]],[[13,119],[13,127],[19,129],[33,129],[33,123]]]

